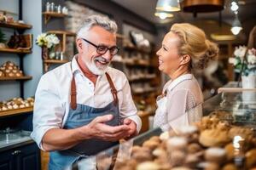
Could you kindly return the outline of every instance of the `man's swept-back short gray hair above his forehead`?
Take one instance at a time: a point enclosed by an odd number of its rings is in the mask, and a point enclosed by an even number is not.
[[[114,20],[110,20],[106,16],[101,16],[98,14],[90,15],[84,20],[84,24],[80,27],[78,33],[77,33],[77,38],[83,37],[84,33],[86,31],[89,31],[90,28],[93,26],[101,26],[107,31],[110,31],[112,33],[117,32],[117,25]]]

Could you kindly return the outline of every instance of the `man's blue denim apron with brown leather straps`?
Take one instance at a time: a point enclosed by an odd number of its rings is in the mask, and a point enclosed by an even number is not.
[[[89,105],[80,105],[76,101],[76,83],[73,76],[71,82],[71,107],[68,112],[67,122],[64,124],[64,129],[73,129],[89,124],[97,116],[107,114],[113,115],[113,120],[106,124],[110,126],[119,125],[119,105],[117,90],[113,82],[106,72],[106,77],[113,94],[113,102],[103,108],[94,108]],[[106,150],[118,142],[108,142],[100,139],[87,139],[73,146],[68,150],[52,151],[49,155],[49,170],[62,170],[67,166],[71,166],[74,162],[79,161],[88,156],[96,155],[96,153]]]

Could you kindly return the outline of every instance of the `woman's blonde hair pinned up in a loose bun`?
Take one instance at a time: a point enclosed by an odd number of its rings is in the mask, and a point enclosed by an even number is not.
[[[183,23],[172,25],[171,31],[180,39],[179,54],[189,54],[191,57],[190,67],[203,69],[207,67],[208,61],[217,59],[218,46],[210,42],[200,28]]]

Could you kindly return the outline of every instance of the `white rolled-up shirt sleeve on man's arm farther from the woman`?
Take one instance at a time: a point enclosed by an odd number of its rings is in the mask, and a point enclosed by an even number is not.
[[[44,150],[42,147],[44,134],[51,128],[61,128],[64,114],[65,106],[61,104],[54,76],[44,75],[38,83],[35,94],[31,134],[32,139],[36,141],[41,150]]]

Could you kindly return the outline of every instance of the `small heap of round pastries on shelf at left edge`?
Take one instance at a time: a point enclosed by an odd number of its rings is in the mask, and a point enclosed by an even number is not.
[[[23,77],[23,72],[11,61],[7,61],[0,67],[0,77]],[[1,76],[2,75],[2,76]]]

